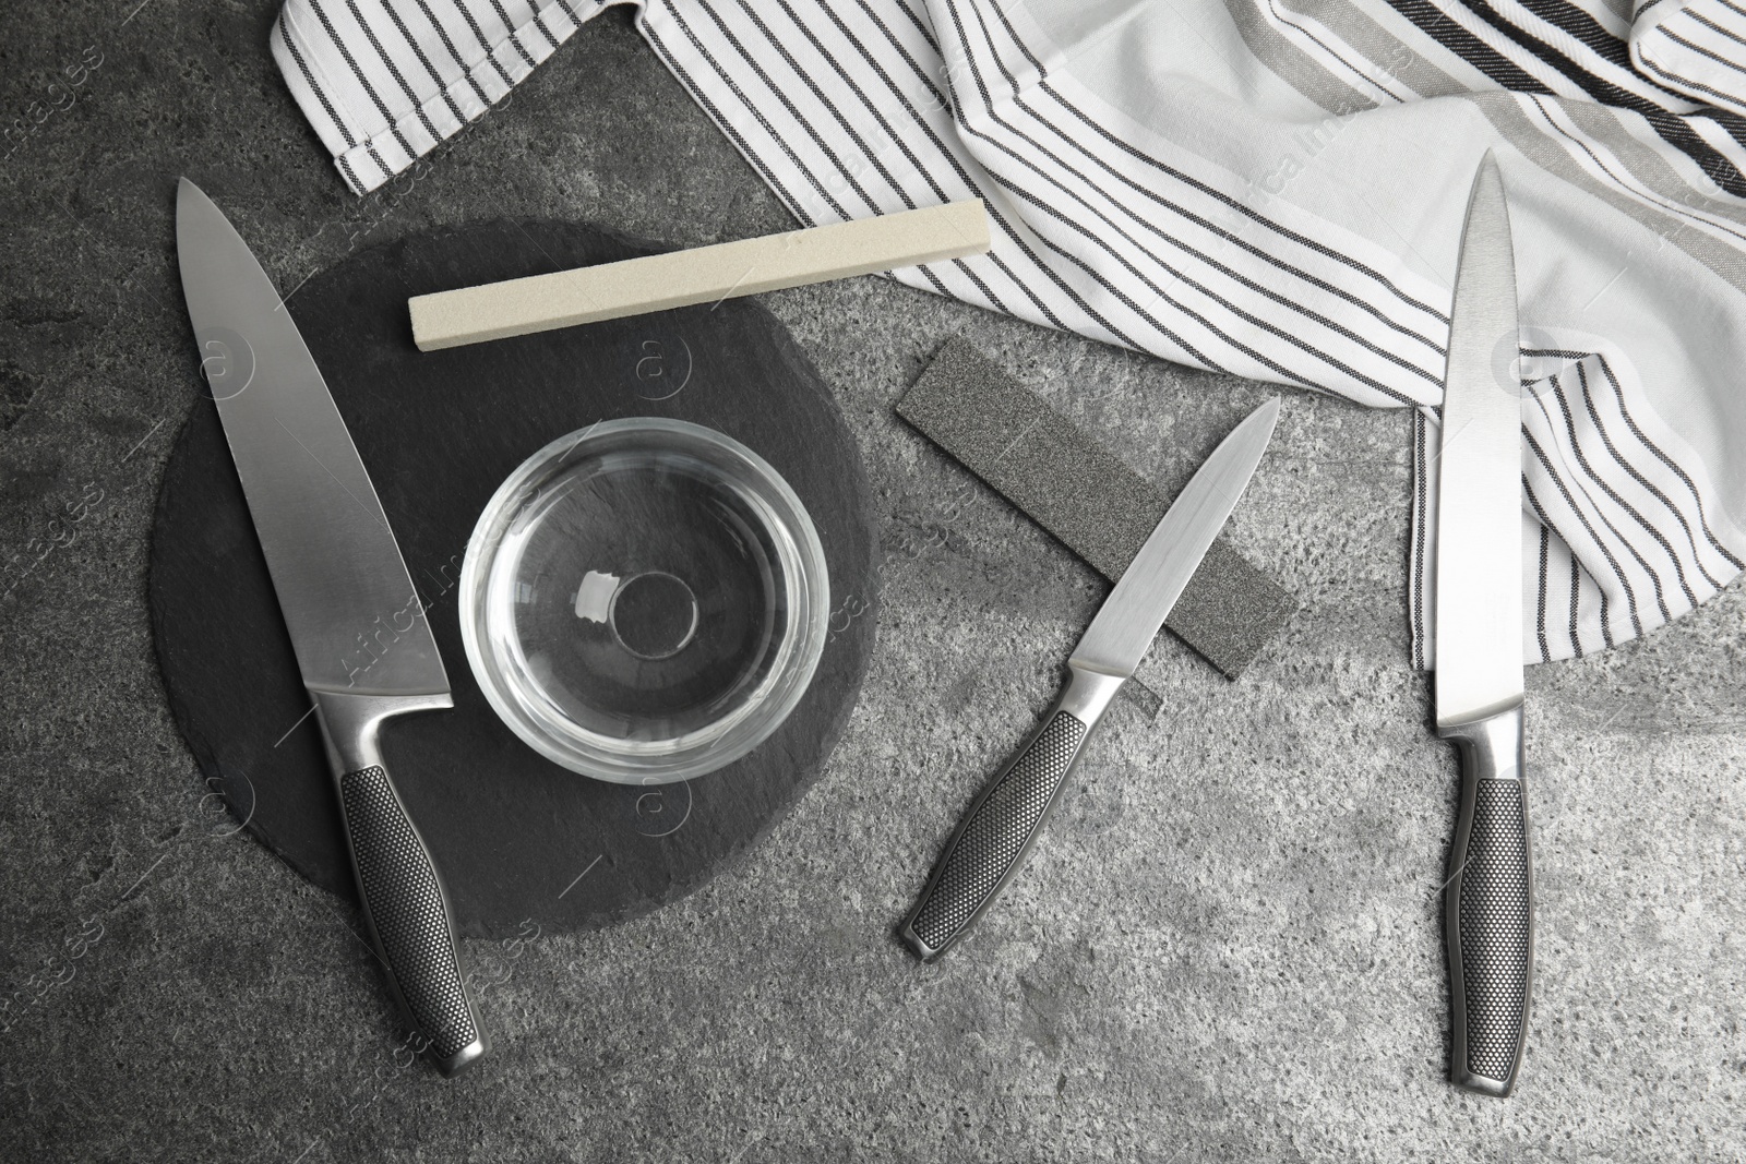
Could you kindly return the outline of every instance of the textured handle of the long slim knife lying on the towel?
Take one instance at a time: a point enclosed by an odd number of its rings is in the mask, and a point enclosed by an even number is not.
[[[1533,989],[1533,841],[1523,709],[1440,728],[1461,752],[1461,813],[1444,925],[1454,1045],[1449,1080],[1488,1096],[1516,1087]]]

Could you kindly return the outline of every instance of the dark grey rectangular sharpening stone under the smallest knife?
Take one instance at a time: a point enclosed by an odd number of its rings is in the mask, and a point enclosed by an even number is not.
[[[1110,581],[1170,508],[1144,476],[960,337],[941,346],[897,415]],[[1236,679],[1296,611],[1290,592],[1220,537],[1165,627]]]

